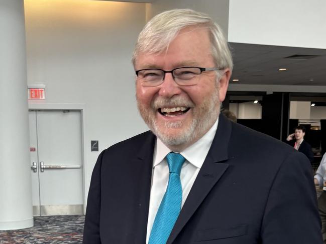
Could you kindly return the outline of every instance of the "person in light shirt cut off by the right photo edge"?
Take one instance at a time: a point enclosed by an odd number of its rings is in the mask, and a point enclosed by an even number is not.
[[[321,218],[322,239],[326,243],[326,153],[322,156],[313,179],[316,186],[322,187],[322,193],[318,198],[318,211]]]

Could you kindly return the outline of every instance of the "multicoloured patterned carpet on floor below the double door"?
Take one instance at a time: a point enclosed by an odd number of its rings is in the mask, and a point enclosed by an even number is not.
[[[34,217],[34,226],[1,230],[0,244],[78,244],[82,243],[84,215]]]

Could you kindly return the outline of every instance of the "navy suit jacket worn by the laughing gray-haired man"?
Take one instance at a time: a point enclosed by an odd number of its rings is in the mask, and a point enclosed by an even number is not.
[[[156,137],[145,132],[98,157],[84,244],[144,244]],[[171,244],[322,244],[309,161],[283,142],[220,115]]]

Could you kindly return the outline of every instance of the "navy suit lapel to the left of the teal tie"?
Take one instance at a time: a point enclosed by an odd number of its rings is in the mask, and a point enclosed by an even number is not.
[[[147,231],[147,220],[148,220],[148,209],[149,209],[149,199],[151,192],[151,180],[152,180],[152,168],[153,168],[153,153],[155,145],[155,135],[149,132],[142,148],[137,154],[133,167],[133,182],[139,182],[137,185],[137,213],[136,221],[134,221],[134,242],[133,243],[145,243],[146,241],[146,231]],[[134,193],[132,193],[134,194]],[[126,216],[129,218],[128,216]]]

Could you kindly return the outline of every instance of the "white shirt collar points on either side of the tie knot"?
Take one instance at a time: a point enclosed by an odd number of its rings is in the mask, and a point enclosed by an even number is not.
[[[197,168],[201,168],[211,143],[213,142],[216,130],[218,129],[219,118],[212,127],[195,143],[184,149],[181,155]],[[153,168],[158,165],[171,150],[159,139],[156,139],[154,148]]]

